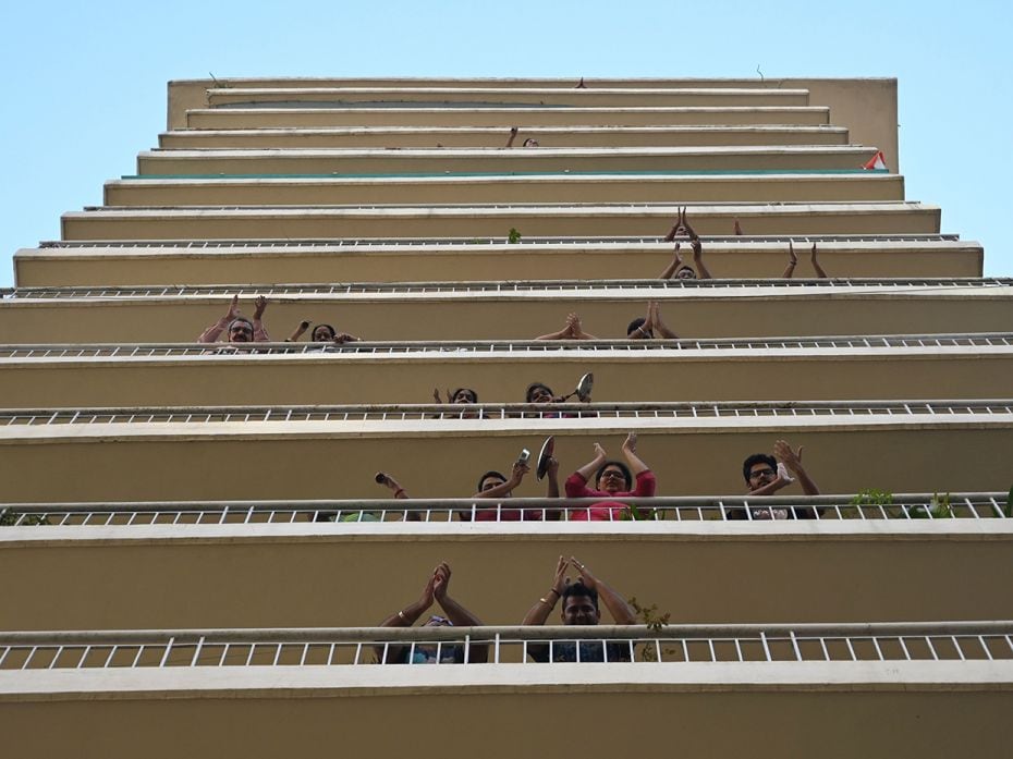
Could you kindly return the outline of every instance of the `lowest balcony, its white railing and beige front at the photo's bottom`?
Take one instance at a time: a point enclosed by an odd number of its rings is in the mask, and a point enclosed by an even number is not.
[[[474,631],[495,638],[497,650],[505,647],[501,641],[524,636],[583,637],[576,628]],[[109,757],[136,756],[138,745],[151,746],[154,756],[170,756],[159,752],[162,746],[178,755],[229,745],[244,756],[267,757],[328,745],[333,715],[340,713],[344,748],[387,755],[403,749],[405,734],[426,734],[450,710],[495,746],[510,745],[508,729],[516,739],[523,724],[538,736],[540,748],[565,751],[572,736],[559,729],[559,713],[574,708],[585,721],[602,724],[637,722],[659,708],[678,714],[680,746],[694,754],[959,754],[974,740],[977,756],[1002,756],[1008,738],[1002,725],[1013,677],[1009,623],[675,628],[640,644],[655,644],[662,652],[685,646],[692,651],[688,661],[346,663],[353,660],[350,648],[391,632],[8,635],[3,642],[17,646],[19,657],[27,649],[41,662],[59,650],[65,662],[75,657],[99,662],[0,672],[0,699],[12,720],[8,745],[19,754],[70,755],[81,735],[101,735]],[[461,638],[469,631],[448,632]],[[630,628],[591,632],[612,633],[656,635]],[[719,649],[730,651],[731,660]],[[38,708],[41,701],[45,709]],[[492,725],[490,710],[501,718]],[[257,719],[251,720],[252,713]],[[392,720],[401,730],[389,730]],[[53,721],[61,730],[51,730]],[[502,722],[509,725],[496,726]],[[730,722],[737,730],[728,730]],[[235,730],[236,723],[244,729]],[[798,723],[806,729],[797,730]],[[181,733],[180,724],[190,727]],[[790,725],[796,729],[789,731]],[[638,739],[648,745],[671,740],[670,721],[646,720],[638,730]],[[847,740],[828,748],[827,736],[842,731]],[[598,732],[601,750],[622,754],[628,747],[625,733]],[[768,732],[757,743],[756,736]],[[477,739],[466,727],[450,731],[440,750],[474,756]]]

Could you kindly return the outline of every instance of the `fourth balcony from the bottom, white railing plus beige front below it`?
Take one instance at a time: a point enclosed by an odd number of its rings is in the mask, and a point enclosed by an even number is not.
[[[212,353],[213,353],[212,348]],[[584,371],[599,401],[814,401],[1009,394],[1013,333],[679,341],[510,341],[345,345],[259,343],[208,355],[178,344],[0,345],[9,408],[428,402],[462,383],[483,401],[521,401],[537,378],[566,388]],[[636,370],[633,371],[632,369]],[[731,369],[731,370],[730,370]],[[251,374],[256,382],[248,381]],[[68,377],[74,378],[73,382]],[[672,381],[678,378],[678,381]],[[447,390],[450,394],[450,390]]]

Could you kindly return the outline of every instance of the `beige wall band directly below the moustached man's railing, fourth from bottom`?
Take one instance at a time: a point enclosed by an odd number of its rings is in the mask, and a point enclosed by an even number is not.
[[[569,355],[198,356],[0,362],[7,408],[429,403],[462,384],[486,403],[524,400],[537,379],[562,392],[584,371],[599,402],[996,399],[1013,391],[1013,348],[617,351]],[[251,381],[251,376],[256,381]],[[673,381],[678,378],[678,381]]]

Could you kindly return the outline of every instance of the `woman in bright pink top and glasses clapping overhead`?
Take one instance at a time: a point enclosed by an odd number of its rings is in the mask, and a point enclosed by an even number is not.
[[[647,464],[636,455],[636,432],[626,436],[623,443],[623,457],[626,464],[609,461],[605,449],[595,443],[595,457],[566,479],[566,498],[608,499],[654,495],[657,481]],[[587,480],[591,474],[595,475],[596,490],[587,487]],[[633,485],[634,478],[636,487]],[[622,519],[623,514],[626,513],[628,513],[628,507],[624,503],[601,501],[590,506],[572,506],[567,518],[571,522],[608,522]]]

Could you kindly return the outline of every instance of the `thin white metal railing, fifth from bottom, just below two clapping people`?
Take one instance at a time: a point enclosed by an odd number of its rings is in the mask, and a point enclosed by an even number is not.
[[[1006,287],[1013,278],[896,278],[896,279],[710,279],[710,280],[529,280],[483,282],[349,282],[332,284],[218,284],[218,285],[144,285],[144,286],[74,286],[74,287],[7,287],[0,297],[8,301],[60,301],[83,298],[172,298],[232,297],[233,295],[283,297],[286,295],[362,295],[362,294],[432,294],[432,293],[582,293],[601,290],[717,290],[722,287],[776,287],[800,290],[854,290],[857,287]]]

